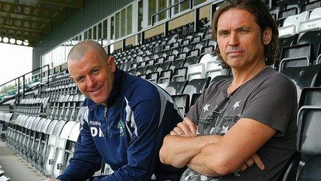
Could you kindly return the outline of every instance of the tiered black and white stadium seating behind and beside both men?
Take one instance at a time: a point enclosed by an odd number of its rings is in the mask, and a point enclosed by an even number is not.
[[[295,180],[297,175],[297,180],[320,180],[320,3],[277,1],[271,8],[279,26],[280,45],[280,61],[273,67],[293,81],[299,103],[297,153],[279,180]],[[232,78],[213,55],[217,42],[210,40],[210,20],[203,18],[197,24],[185,24],[112,53],[118,68],[165,89],[182,115],[210,84]],[[69,79],[68,71],[48,75],[48,83],[38,85],[37,94],[12,97],[16,100],[13,105],[2,102],[0,135],[35,169],[55,178],[73,157],[84,96]],[[4,172],[0,167],[0,180],[10,180]],[[106,164],[100,173],[112,171]]]

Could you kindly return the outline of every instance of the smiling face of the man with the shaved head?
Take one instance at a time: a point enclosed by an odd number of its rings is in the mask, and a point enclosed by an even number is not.
[[[98,104],[107,105],[113,89],[113,58],[104,60],[98,51],[90,49],[80,60],[69,60],[68,70],[80,92]]]

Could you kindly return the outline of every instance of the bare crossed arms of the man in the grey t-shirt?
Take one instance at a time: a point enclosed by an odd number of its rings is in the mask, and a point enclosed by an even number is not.
[[[182,132],[184,134],[181,135]],[[264,123],[240,119],[223,137],[196,137],[195,124],[185,118],[165,137],[160,149],[160,161],[175,167],[187,165],[208,176],[244,171],[254,164],[263,170],[264,164],[255,153],[275,132]]]

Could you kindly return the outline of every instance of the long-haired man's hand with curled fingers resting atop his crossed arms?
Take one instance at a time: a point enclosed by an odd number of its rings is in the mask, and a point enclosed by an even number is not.
[[[170,132],[170,135],[180,137],[196,137],[197,126],[192,120],[185,117],[184,120],[177,124],[177,126]]]

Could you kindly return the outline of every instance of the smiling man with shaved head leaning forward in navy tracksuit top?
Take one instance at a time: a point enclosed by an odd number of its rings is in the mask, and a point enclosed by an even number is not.
[[[165,135],[182,120],[169,94],[118,69],[89,40],[71,49],[68,71],[86,99],[75,155],[58,180],[91,178],[102,162],[114,172],[95,180],[179,179],[182,170],[162,164],[158,155]]]

